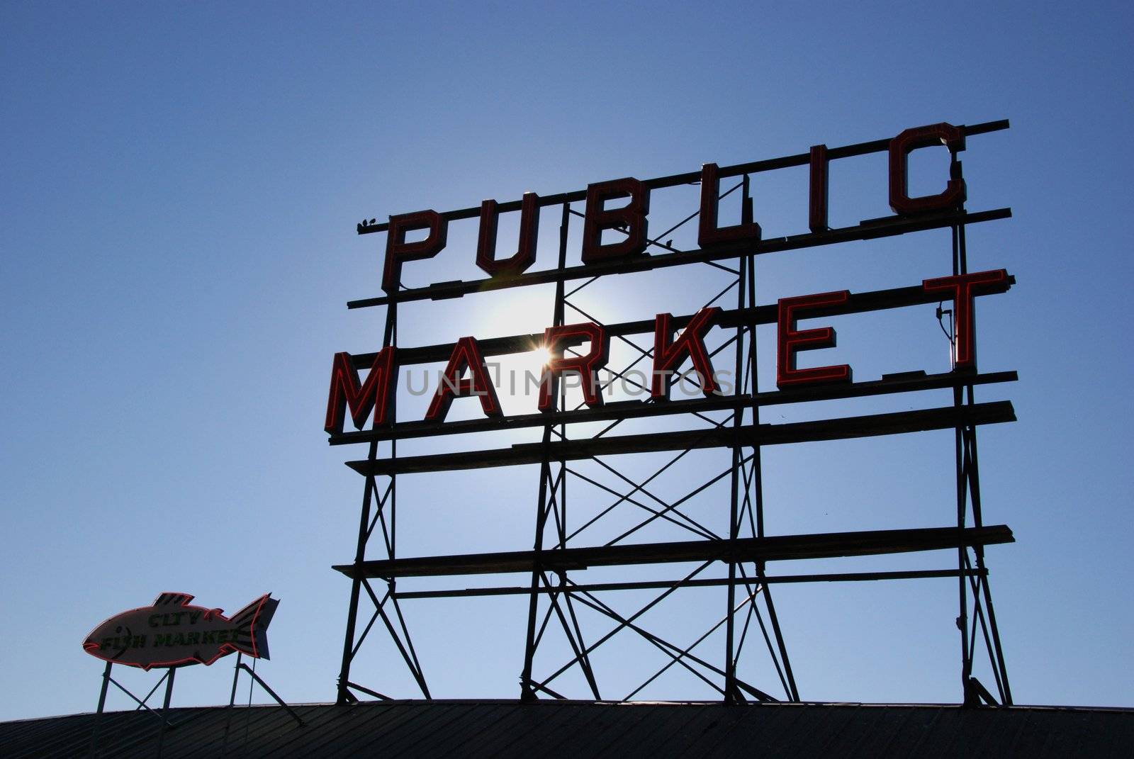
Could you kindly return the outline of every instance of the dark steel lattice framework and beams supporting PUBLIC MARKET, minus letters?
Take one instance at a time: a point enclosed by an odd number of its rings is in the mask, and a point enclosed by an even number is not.
[[[965,135],[979,135],[1008,127],[1007,121],[991,121],[975,126],[959,127]],[[890,141],[881,140],[845,147],[826,150],[827,160],[863,155],[886,151]],[[750,199],[750,176],[761,171],[795,166],[807,166],[815,151],[786,158],[721,167],[721,178],[733,178],[735,186],[721,193],[721,197],[741,192],[743,196],[743,221],[752,220]],[[959,176],[959,165],[953,154],[954,174]],[[675,187],[694,184],[700,172],[682,174],[646,180],[650,188]],[[717,324],[731,330],[729,339],[717,347],[713,356],[723,355],[733,360],[737,381],[730,396],[675,399],[667,403],[621,403],[603,407],[567,408],[564,405],[565,390],[560,389],[556,408],[550,413],[531,413],[514,416],[484,418],[435,424],[423,421],[397,421],[378,429],[357,432],[341,432],[331,436],[331,444],[367,444],[369,454],[362,461],[349,462],[349,466],[364,479],[364,492],[358,522],[358,533],[353,563],[336,566],[352,579],[350,601],[347,614],[346,639],[344,642],[341,672],[338,684],[338,700],[353,702],[359,695],[387,698],[380,688],[363,684],[363,678],[352,671],[352,663],[359,648],[372,634],[375,626],[384,629],[391,636],[405,665],[417,682],[424,698],[433,698],[421,661],[414,648],[411,626],[403,613],[401,601],[413,598],[447,598],[485,594],[526,594],[528,597],[527,627],[523,657],[517,656],[521,669],[521,697],[536,699],[541,695],[565,698],[556,690],[556,680],[565,672],[577,667],[585,678],[589,695],[608,699],[600,690],[600,672],[592,665],[592,653],[600,646],[621,631],[631,631],[663,652],[668,659],[660,672],[652,674],[638,689],[624,700],[633,699],[642,688],[672,666],[684,667],[716,690],[726,702],[798,701],[799,690],[793,673],[788,641],[785,640],[777,615],[772,588],[778,583],[794,582],[853,582],[889,579],[955,577],[958,591],[957,625],[960,633],[960,676],[964,702],[974,705],[1012,703],[1012,691],[1005,667],[1004,653],[993,613],[989,588],[984,547],[1010,542],[1012,532],[1005,525],[984,523],[981,508],[976,428],[981,424],[1015,420],[1008,402],[978,403],[974,388],[980,385],[1014,381],[1015,372],[980,373],[975,369],[955,370],[940,374],[924,372],[885,376],[881,380],[847,382],[832,386],[797,387],[775,391],[759,391],[756,388],[756,327],[776,323],[776,304],[759,304],[755,301],[755,267],[760,255],[777,251],[796,250],[847,241],[872,239],[926,229],[953,230],[951,267],[954,275],[968,271],[965,250],[965,227],[1010,217],[1009,209],[980,212],[964,210],[963,203],[946,212],[915,216],[892,216],[863,221],[853,227],[811,231],[809,234],[762,239],[755,243],[721,245],[712,250],[679,251],[666,241],[678,227],[694,219],[693,212],[677,225],[652,236],[650,248],[655,255],[631,258],[628,260],[567,265],[568,231],[572,224],[583,214],[573,208],[585,199],[585,192],[539,199],[542,206],[559,206],[560,235],[558,265],[553,269],[522,273],[507,278],[489,278],[474,281],[449,281],[429,287],[405,289],[381,297],[372,297],[349,303],[349,307],[384,306],[386,328],[382,346],[398,346],[398,307],[411,301],[460,297],[466,294],[490,289],[519,287],[525,285],[553,282],[556,286],[552,305],[553,324],[565,324],[568,311],[600,322],[584,313],[573,301],[579,290],[609,275],[625,275],[663,267],[700,263],[728,272],[730,284],[706,302],[706,306],[718,305],[730,298],[731,309],[721,312]],[[521,202],[500,203],[500,211],[519,210]],[[471,208],[442,213],[446,219],[475,218],[480,209]],[[358,226],[359,234],[387,230],[388,225],[365,222]],[[1014,282],[1008,278],[1007,286]],[[885,289],[858,293],[849,297],[839,309],[815,310],[813,315],[824,313],[853,313],[891,309],[924,303],[940,302],[940,295],[926,293],[922,287]],[[692,315],[674,319],[675,329],[687,324]],[[601,322],[600,322],[601,323]],[[615,324],[603,324],[607,334],[633,346],[636,359],[616,377],[626,380],[627,373],[641,361],[652,357],[651,345],[640,345],[634,336],[652,334],[653,320]],[[510,337],[480,340],[485,356],[503,355],[530,351],[542,339],[542,335],[515,335]],[[649,338],[648,338],[649,339]],[[399,365],[445,361],[451,345],[424,347],[398,346]],[[354,356],[357,369],[370,368],[375,354]],[[836,398],[865,397],[886,394],[915,393],[920,390],[951,388],[951,405],[898,413],[872,414],[809,422],[769,424],[761,419],[761,412],[775,404],[795,404]],[[721,412],[723,419],[706,414]],[[705,429],[679,430],[649,435],[608,435],[627,420],[663,414],[682,414],[708,422]],[[585,438],[570,438],[572,425],[586,422],[609,422],[601,432]],[[399,456],[398,441],[431,436],[489,432],[503,429],[541,428],[540,442],[514,445],[506,448],[463,450],[433,455]],[[836,440],[856,437],[898,435],[922,430],[955,430],[956,471],[956,522],[934,529],[887,530],[871,532],[839,532],[824,534],[769,535],[764,529],[763,471],[761,452],[767,446],[803,441]],[[380,445],[383,453],[380,455]],[[713,472],[700,482],[689,483],[683,494],[666,494],[655,490],[652,483],[675,462],[688,452],[718,448],[730,452],[730,464],[720,472]],[[649,477],[629,477],[616,466],[604,462],[611,455],[650,453],[668,454]],[[576,462],[596,463],[610,475],[619,480],[623,488],[611,488],[579,471]],[[536,509],[535,533],[530,550],[472,554],[455,556],[405,556],[397,542],[397,480],[400,475],[447,470],[538,464],[540,466],[539,492],[534,497]],[[623,531],[606,545],[579,545],[575,540],[582,528],[569,529],[568,483],[582,478],[589,484],[608,491],[615,499],[609,508],[587,522],[589,526],[611,509],[637,508],[644,514],[637,526]],[[703,492],[709,487],[727,480],[730,500],[727,505],[729,528],[727,534],[717,534],[700,524],[683,511],[683,504]],[[723,506],[723,505],[722,505]],[[694,540],[677,542],[627,543],[626,538],[657,520],[665,520],[687,530]],[[924,568],[914,571],[875,571],[857,573],[823,574],[770,574],[768,564],[785,559],[811,559],[843,556],[866,556],[909,551],[956,550],[956,566],[949,568]],[[716,563],[727,566],[727,576],[704,576]],[[692,563],[694,568],[680,576],[665,581],[618,581],[586,582],[579,574],[587,567],[629,566],[642,564]],[[408,576],[459,576],[494,573],[523,572],[530,577],[524,584],[506,584],[491,588],[458,588],[428,591],[400,591],[398,580]],[[719,619],[706,622],[704,635],[692,644],[679,644],[666,640],[653,630],[648,630],[640,617],[675,591],[695,587],[723,587],[727,589],[727,605]],[[603,594],[620,590],[652,590],[655,596],[634,614],[620,614],[603,600]],[[363,600],[365,597],[365,604]],[[584,631],[579,623],[579,609],[587,608],[608,617],[613,627],[601,635]],[[364,610],[365,609],[365,610]],[[538,671],[536,652],[545,640],[549,626],[561,627],[574,656],[557,668]],[[726,647],[719,655],[709,656],[694,649],[725,627]],[[759,629],[759,633],[756,632]],[[773,697],[760,684],[746,682],[738,674],[738,661],[745,646],[754,639],[762,639],[775,665],[782,695]],[[973,664],[978,647],[991,664],[995,678],[995,694],[973,677]]]

